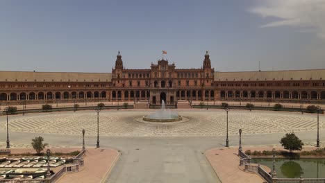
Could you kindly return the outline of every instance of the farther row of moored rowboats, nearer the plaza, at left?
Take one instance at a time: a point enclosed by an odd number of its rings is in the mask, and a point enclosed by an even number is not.
[[[47,159],[41,157],[33,157],[33,158],[10,158],[6,159],[4,162],[0,164],[0,168],[40,168],[47,166]],[[49,166],[58,167],[65,164],[66,159],[59,157],[51,157],[49,158]]]

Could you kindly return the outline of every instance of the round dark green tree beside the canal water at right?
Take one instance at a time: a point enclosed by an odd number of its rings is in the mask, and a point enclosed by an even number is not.
[[[299,139],[294,132],[285,134],[280,141],[281,146],[285,149],[289,150],[290,153],[294,150],[301,150],[303,146],[303,142]]]

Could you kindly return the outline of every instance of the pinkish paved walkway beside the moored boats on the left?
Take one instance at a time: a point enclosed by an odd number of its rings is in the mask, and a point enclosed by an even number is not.
[[[85,166],[78,173],[66,173],[59,182],[98,183],[102,182],[113,168],[119,153],[108,148],[90,148],[84,157]]]

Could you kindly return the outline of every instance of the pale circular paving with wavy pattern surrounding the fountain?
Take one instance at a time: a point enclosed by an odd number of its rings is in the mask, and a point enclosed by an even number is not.
[[[152,111],[154,112],[154,111]],[[175,123],[143,123],[145,111],[101,111],[99,134],[106,136],[219,136],[226,134],[224,110],[180,110],[185,116]],[[319,129],[324,129],[325,116],[319,116]],[[267,134],[317,130],[316,114],[232,110],[228,113],[228,134]],[[1,116],[0,129],[6,129],[6,118]],[[9,116],[10,131],[49,134],[97,134],[97,113],[90,111],[56,112]]]

